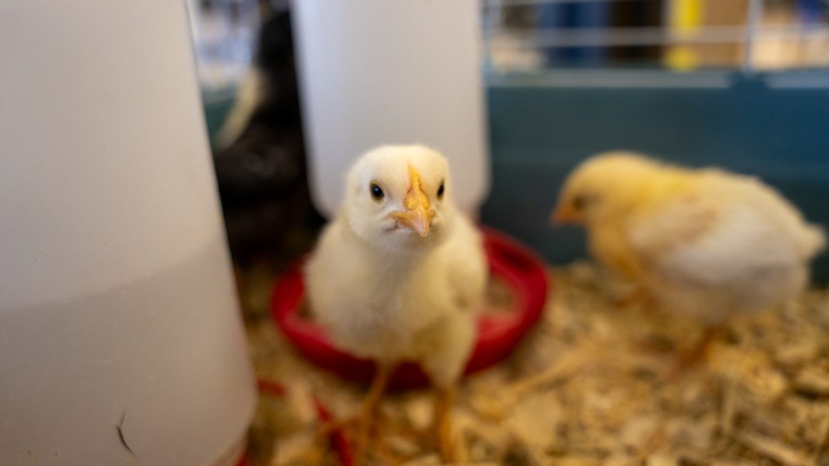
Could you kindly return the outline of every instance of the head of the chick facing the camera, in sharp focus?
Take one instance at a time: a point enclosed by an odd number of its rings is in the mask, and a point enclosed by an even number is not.
[[[444,156],[423,146],[382,146],[348,172],[343,213],[362,240],[409,253],[434,247],[452,226],[456,208]]]

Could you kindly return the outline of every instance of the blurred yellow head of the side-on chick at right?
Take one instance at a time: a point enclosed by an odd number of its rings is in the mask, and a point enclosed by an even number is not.
[[[556,223],[591,225],[628,214],[652,195],[665,168],[637,153],[601,153],[565,180],[553,213]]]

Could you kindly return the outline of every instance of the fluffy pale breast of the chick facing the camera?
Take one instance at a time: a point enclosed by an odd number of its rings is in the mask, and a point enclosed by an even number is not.
[[[312,312],[337,346],[357,357],[422,361],[442,319],[471,315],[479,303],[474,296],[485,274],[469,269],[482,261],[479,239],[473,253],[476,235],[467,225],[422,257],[400,259],[367,249],[335,221],[306,270]]]

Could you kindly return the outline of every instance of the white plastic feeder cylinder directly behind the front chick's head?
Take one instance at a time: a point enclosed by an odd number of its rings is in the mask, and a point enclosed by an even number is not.
[[[313,201],[337,209],[343,173],[366,150],[423,143],[444,153],[453,194],[487,194],[477,0],[293,2]]]

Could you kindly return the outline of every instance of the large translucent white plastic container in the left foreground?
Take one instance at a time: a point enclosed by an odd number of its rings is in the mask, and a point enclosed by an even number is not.
[[[183,2],[0,2],[0,57],[0,464],[235,464],[255,384]]]

